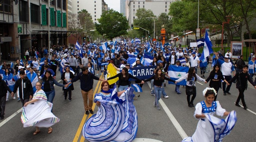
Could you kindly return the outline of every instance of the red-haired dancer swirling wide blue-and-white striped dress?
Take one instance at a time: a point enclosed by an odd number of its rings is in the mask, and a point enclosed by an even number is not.
[[[116,89],[109,88],[107,81],[103,81],[101,86],[101,92],[94,97],[99,106],[98,112],[85,123],[83,137],[90,142],[133,141],[138,130],[138,118],[132,88],[117,93]]]

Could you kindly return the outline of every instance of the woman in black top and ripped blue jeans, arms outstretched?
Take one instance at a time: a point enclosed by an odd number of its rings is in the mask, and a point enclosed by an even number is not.
[[[166,78],[163,74],[162,74],[162,70],[160,68],[156,69],[156,74],[153,75],[151,78],[146,79],[145,82],[154,79],[154,94],[155,94],[155,101],[154,101],[154,107],[157,106],[157,110],[160,110],[159,107],[159,99],[161,98],[162,95],[162,90],[163,90],[163,82],[164,80],[168,80],[168,81],[172,81],[175,83],[174,80],[171,80],[170,78]]]

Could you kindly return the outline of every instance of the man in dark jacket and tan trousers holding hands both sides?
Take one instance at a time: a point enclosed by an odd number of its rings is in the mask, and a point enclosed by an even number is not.
[[[98,78],[92,73],[88,72],[88,67],[82,67],[82,72],[80,72],[75,78],[73,78],[68,84],[65,85],[65,87],[67,88],[69,84],[74,83],[77,80],[80,80],[80,87],[84,100],[85,114],[89,114],[89,111],[91,114],[93,114],[93,85],[91,82],[92,79],[103,81],[102,78]]]

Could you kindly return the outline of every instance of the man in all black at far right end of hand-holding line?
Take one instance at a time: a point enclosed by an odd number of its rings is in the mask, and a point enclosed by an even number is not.
[[[247,109],[248,107],[245,104],[244,101],[244,95],[243,92],[247,89],[247,80],[254,86],[256,89],[255,83],[252,81],[252,78],[250,77],[248,73],[248,65],[243,65],[243,69],[241,72],[238,72],[228,83],[232,83],[235,79],[237,79],[236,88],[238,88],[239,95],[235,102],[235,105],[240,107],[239,101],[241,99],[243,103],[243,108]]]

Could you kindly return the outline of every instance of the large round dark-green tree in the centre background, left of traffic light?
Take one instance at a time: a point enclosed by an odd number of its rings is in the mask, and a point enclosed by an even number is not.
[[[111,41],[115,37],[127,34],[129,25],[126,17],[113,9],[103,12],[98,21],[99,24],[95,24],[96,30]]]

